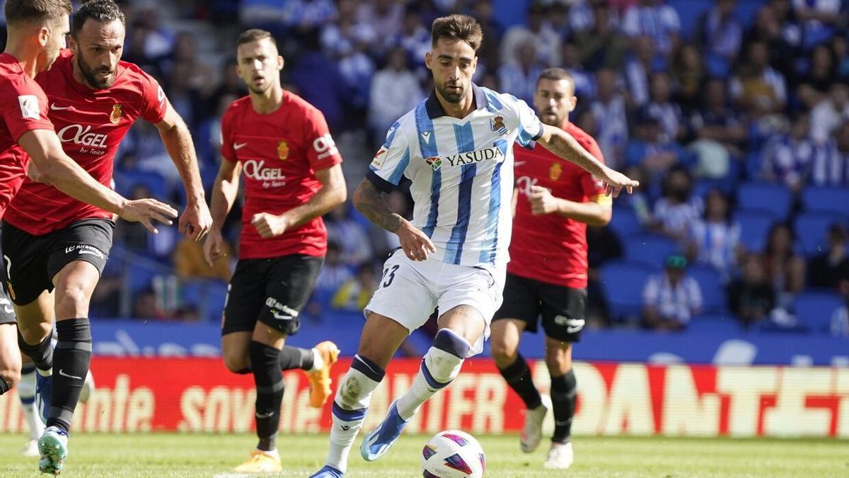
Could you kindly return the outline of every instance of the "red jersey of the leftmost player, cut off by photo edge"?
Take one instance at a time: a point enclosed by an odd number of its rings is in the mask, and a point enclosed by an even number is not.
[[[48,98],[14,56],[0,54],[0,219],[24,183],[30,163],[18,139],[33,129],[53,129]]]

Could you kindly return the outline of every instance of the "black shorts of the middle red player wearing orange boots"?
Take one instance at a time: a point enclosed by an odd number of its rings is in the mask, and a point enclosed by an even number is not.
[[[256,321],[287,335],[301,328],[301,309],[324,258],[292,254],[273,259],[239,259],[230,279],[221,334],[250,332]]]

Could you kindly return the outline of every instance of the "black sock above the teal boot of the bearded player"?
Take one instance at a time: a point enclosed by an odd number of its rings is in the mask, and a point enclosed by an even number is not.
[[[53,395],[47,426],[68,431],[92,361],[92,327],[85,317],[56,322]]]

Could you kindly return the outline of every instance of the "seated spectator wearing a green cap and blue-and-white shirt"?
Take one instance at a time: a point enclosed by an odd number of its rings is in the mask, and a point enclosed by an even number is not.
[[[643,288],[643,320],[646,327],[660,331],[682,330],[701,312],[699,282],[687,275],[687,259],[666,258],[661,274],[649,276]]]

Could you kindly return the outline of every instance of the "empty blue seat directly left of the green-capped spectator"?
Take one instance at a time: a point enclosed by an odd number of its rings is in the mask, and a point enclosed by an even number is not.
[[[610,261],[601,268],[601,287],[614,322],[638,319],[643,313],[643,287],[651,275],[645,265]]]

